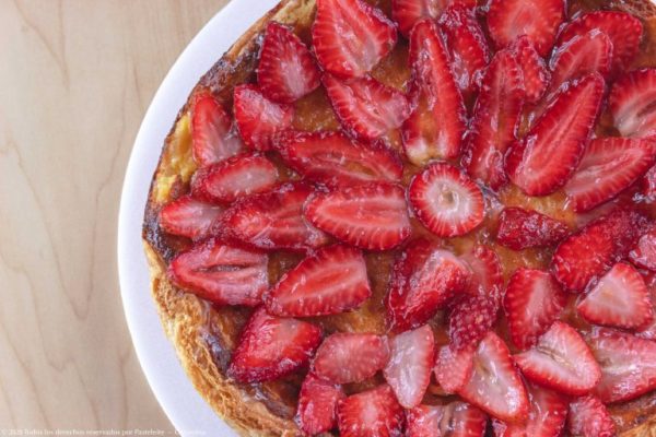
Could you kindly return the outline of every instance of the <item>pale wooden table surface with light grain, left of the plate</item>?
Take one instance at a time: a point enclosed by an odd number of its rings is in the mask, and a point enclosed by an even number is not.
[[[0,435],[174,433],[125,322],[116,221],[156,87],[225,3],[0,0]]]

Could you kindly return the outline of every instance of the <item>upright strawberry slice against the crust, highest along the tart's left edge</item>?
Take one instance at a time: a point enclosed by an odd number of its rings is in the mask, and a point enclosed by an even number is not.
[[[200,94],[191,108],[194,161],[201,167],[231,157],[243,147],[223,106],[209,93]]]

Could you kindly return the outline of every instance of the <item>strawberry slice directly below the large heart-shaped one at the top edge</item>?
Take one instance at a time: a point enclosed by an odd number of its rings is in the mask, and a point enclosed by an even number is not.
[[[410,116],[406,95],[373,78],[342,81],[325,74],[324,86],[342,127],[354,137],[375,140]]]

